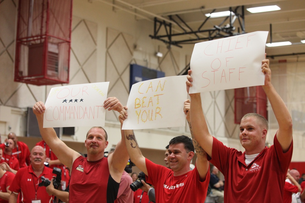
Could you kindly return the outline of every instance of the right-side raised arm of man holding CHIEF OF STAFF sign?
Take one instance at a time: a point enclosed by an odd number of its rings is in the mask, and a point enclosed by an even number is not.
[[[269,59],[262,61],[262,72],[265,74],[265,85],[262,86],[268,100],[271,104],[275,118],[278,121],[278,131],[276,137],[280,143],[283,152],[287,152],[292,142],[292,118],[289,114],[284,101],[278,95],[271,84],[271,70],[269,68]]]

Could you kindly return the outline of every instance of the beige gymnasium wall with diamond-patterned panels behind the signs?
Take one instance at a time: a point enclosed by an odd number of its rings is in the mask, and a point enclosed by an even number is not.
[[[3,135],[10,131],[23,137],[26,132],[26,108],[32,107],[36,101],[45,101],[49,90],[59,85],[34,86],[13,82],[17,0],[3,0],[0,4],[0,133],[3,141]],[[152,33],[151,21],[135,18],[102,2],[74,0],[70,84],[109,81],[108,96],[116,96],[126,104],[130,63],[161,70],[166,76],[177,75],[190,61],[193,45],[167,49],[165,44],[149,37]],[[163,58],[157,58],[156,51],[161,51]],[[273,63],[271,68],[274,86],[289,111],[304,112],[304,63]],[[234,90],[203,93],[202,98],[211,134],[229,147],[243,150],[238,139],[239,126],[234,124]],[[267,141],[272,143],[277,126],[274,125],[271,108],[268,107],[268,110],[271,129]],[[109,147],[120,140],[117,116],[117,112],[106,113]],[[72,143],[77,151],[84,150],[81,146],[88,129],[77,127],[74,136],[62,136],[61,139]],[[302,156],[305,152],[303,132],[302,128],[294,131],[292,161],[305,161],[305,156]],[[138,130],[135,134],[140,147],[151,150],[147,156],[163,154],[169,140],[177,135],[190,135],[188,127]],[[24,138],[24,142],[33,145],[36,141]],[[160,160],[163,163],[163,156]]]

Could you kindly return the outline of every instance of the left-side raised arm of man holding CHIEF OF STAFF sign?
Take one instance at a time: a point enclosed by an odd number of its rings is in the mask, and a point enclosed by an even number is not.
[[[193,82],[191,73],[192,70],[189,70],[187,75],[188,80],[186,81],[187,92],[189,91],[189,88],[192,86]],[[190,128],[192,128],[192,136],[194,136],[195,140],[197,140],[203,151],[212,157],[213,137],[210,135],[208,126],[206,124],[206,119],[203,114],[200,93],[189,94],[189,96],[192,101],[192,105],[190,105],[190,111],[192,112],[192,114],[190,114],[190,123],[192,124]]]

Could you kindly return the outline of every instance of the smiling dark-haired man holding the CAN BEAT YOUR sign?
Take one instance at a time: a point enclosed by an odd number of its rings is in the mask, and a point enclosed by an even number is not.
[[[189,111],[186,110],[189,118]],[[127,118],[127,107],[121,111],[121,124]],[[190,126],[191,129],[191,126]],[[146,182],[155,186],[156,202],[204,202],[210,181],[209,162],[206,152],[198,142],[185,135],[170,140],[167,159],[170,169],[146,159],[138,146],[133,130],[124,130],[125,142],[130,159],[145,173]],[[192,130],[191,130],[192,134]],[[190,162],[196,149],[197,159],[194,170],[190,169]]]

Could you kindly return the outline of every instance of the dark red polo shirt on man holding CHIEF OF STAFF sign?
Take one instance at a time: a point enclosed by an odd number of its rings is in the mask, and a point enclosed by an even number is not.
[[[283,202],[287,170],[292,157],[293,143],[283,153],[276,135],[274,145],[263,151],[248,165],[245,152],[225,146],[213,138],[210,163],[224,174],[224,202],[270,203]]]

